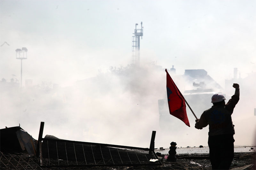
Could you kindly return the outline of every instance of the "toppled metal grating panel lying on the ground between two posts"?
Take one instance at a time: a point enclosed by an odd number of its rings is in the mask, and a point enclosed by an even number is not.
[[[149,162],[158,158],[148,148],[45,138],[39,144],[41,166],[161,165]]]

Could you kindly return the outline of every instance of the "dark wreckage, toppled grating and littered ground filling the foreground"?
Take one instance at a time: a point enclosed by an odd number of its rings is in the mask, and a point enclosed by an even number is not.
[[[19,126],[1,129],[0,134],[0,169],[212,169],[208,153],[176,154],[176,143],[170,147],[176,159],[167,161],[168,154],[148,148],[68,141],[51,135],[40,138],[37,150],[37,140]],[[150,148],[154,149],[154,138]],[[230,169],[256,169],[255,157],[256,152],[235,153]]]

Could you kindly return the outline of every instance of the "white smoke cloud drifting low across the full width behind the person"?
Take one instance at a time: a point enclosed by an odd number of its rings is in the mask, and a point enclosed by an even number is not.
[[[178,87],[186,83],[180,78],[173,76]],[[108,73],[100,73],[66,88],[52,89],[49,85],[41,85],[18,92],[17,89],[16,92],[5,91],[1,98],[1,113],[4,113],[1,114],[1,124],[15,126],[20,123],[37,137],[39,122],[43,121],[44,135],[140,147],[148,147],[151,132],[156,130],[155,144],[159,147],[168,147],[170,141],[183,147],[207,145],[208,128],[195,129],[195,118],[188,108],[190,128],[173,116],[166,124],[168,129],[160,128],[158,99],[166,99],[165,86],[164,69],[144,65],[110,68]],[[253,87],[248,88],[255,92]],[[241,90],[241,100],[233,114],[237,145],[254,142],[254,104],[248,99],[255,100],[255,97],[253,93],[244,94],[245,91]],[[209,106],[202,106],[202,103],[198,99],[198,104],[191,107],[203,112]],[[196,115],[200,117],[201,113]]]

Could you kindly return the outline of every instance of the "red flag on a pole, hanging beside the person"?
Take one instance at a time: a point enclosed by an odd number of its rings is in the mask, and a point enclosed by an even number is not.
[[[173,82],[171,76],[166,71],[166,90],[167,90],[167,99],[170,114],[179,118],[187,126],[190,127],[188,122],[188,116],[186,111],[185,99],[180,93],[180,90]]]

